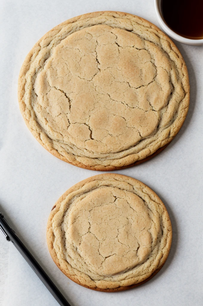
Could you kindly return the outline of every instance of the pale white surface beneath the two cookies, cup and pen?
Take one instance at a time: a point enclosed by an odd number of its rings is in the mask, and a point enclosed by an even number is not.
[[[100,172],[65,163],[47,152],[27,129],[17,101],[25,56],[47,31],[71,17],[117,10],[159,26],[153,0],[1,1],[0,9],[0,211],[74,306],[201,305],[203,46],[176,43],[190,76],[190,109],[172,143],[139,166],[116,173],[143,181],[161,197],[173,228],[169,257],[149,282],[119,293],[86,289],[54,264],[46,244],[46,222],[56,200],[72,185]],[[0,304],[57,306],[13,244],[0,234]]]

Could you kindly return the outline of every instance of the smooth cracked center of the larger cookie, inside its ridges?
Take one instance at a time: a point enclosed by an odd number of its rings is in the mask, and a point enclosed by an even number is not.
[[[143,39],[95,25],[70,34],[53,50],[36,78],[33,106],[51,139],[106,154],[157,131],[172,88]]]

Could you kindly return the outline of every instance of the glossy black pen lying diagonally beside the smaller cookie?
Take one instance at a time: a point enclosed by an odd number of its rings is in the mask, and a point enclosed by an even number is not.
[[[37,276],[41,279],[42,283],[46,286],[46,288],[50,291],[53,297],[57,300],[59,305],[61,306],[71,306],[65,297],[61,294],[58,288],[54,285],[49,276],[45,273],[36,259],[32,256],[32,254],[28,251],[28,249],[24,246],[22,241],[18,238],[16,233],[9,226],[8,222],[4,218],[4,216],[0,213],[0,230],[3,235],[6,237],[7,241],[13,242],[17,250],[24,257],[30,267],[35,271]]]

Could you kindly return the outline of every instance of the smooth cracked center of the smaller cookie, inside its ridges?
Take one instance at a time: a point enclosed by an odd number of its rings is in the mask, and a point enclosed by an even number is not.
[[[62,224],[65,245],[77,250],[90,271],[111,276],[150,256],[152,220],[140,197],[104,187],[73,204]]]

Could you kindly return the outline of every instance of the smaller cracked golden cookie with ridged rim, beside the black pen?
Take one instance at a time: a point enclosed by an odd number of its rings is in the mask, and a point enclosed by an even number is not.
[[[100,174],[68,189],[47,224],[50,254],[72,281],[93,290],[130,289],[152,278],[171,247],[160,198],[134,178]]]

